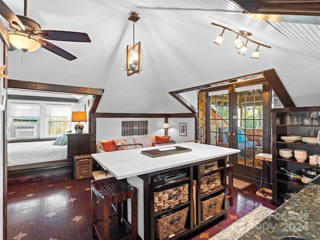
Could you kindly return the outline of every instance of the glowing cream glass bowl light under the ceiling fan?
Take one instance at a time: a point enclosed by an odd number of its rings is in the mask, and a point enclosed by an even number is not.
[[[9,31],[10,44],[25,51],[35,51],[41,47],[40,40],[30,34],[20,31]]]

